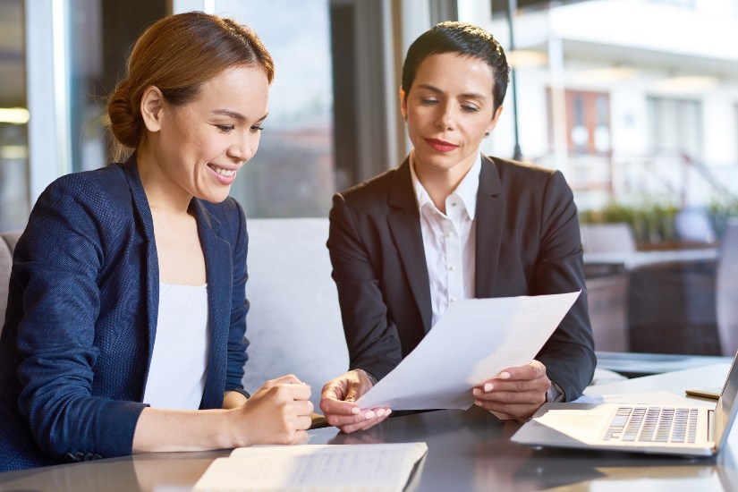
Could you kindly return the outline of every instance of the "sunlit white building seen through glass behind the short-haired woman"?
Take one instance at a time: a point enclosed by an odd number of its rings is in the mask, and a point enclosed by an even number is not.
[[[523,157],[562,170],[583,210],[637,204],[644,192],[675,208],[738,196],[736,127],[726,109],[738,99],[733,2],[537,2],[514,13],[512,26],[505,4],[493,2],[491,15],[460,9],[505,48],[511,29],[515,41],[518,94],[511,91],[496,138],[485,142],[490,153],[513,155],[516,125]],[[653,186],[633,186],[643,181]]]

